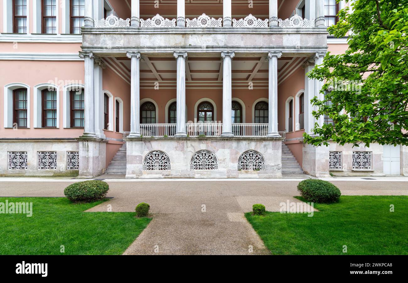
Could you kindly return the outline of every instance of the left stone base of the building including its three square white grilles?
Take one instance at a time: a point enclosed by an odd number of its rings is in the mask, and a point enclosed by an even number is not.
[[[75,139],[0,139],[0,176],[77,175]]]

